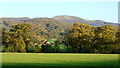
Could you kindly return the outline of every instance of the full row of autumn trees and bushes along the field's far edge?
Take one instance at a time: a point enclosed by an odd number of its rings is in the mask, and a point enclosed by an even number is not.
[[[54,43],[44,43],[29,23],[2,28],[2,52],[27,53],[120,53],[120,31],[111,25],[93,27],[74,23]],[[48,40],[48,39],[47,39]]]

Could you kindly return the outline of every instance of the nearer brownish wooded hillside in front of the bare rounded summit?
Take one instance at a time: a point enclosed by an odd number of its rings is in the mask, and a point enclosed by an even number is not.
[[[5,29],[11,28],[12,25],[19,23],[32,24],[32,31],[37,35],[42,35],[44,38],[59,38],[68,30],[72,24],[60,22],[52,18],[0,18],[4,23]]]

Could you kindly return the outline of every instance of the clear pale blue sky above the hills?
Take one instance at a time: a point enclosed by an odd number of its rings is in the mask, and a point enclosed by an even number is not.
[[[0,2],[0,17],[77,16],[118,22],[118,2]]]

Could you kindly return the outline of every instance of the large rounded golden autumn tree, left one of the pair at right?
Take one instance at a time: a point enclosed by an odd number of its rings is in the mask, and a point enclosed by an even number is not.
[[[80,52],[83,48],[89,47],[89,43],[94,37],[94,28],[83,23],[74,23],[65,37],[68,45],[73,48],[79,48]]]

